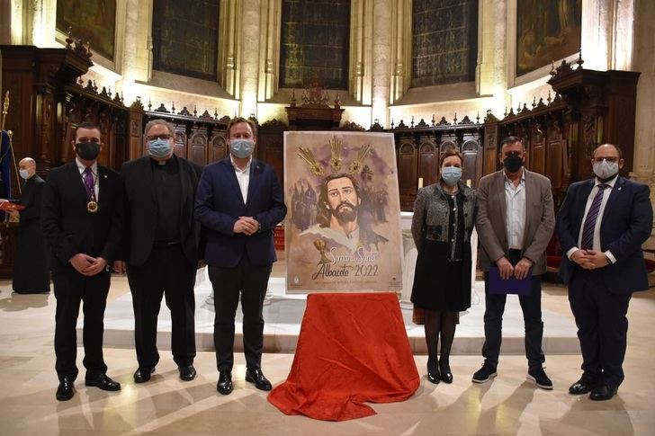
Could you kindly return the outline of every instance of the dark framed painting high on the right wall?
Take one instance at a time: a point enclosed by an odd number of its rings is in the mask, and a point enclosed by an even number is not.
[[[580,50],[580,0],[516,2],[516,76]]]

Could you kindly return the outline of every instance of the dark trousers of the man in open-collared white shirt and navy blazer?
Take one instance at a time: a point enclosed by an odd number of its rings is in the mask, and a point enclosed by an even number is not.
[[[272,265],[252,265],[247,256],[234,268],[209,267],[214,289],[214,346],[216,364],[220,371],[231,371],[234,366],[234,316],[241,294],[243,312],[243,347],[248,369],[259,369],[264,346],[264,317],[262,308]]]

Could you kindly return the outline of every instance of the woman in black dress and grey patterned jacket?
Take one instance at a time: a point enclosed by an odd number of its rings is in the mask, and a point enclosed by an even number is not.
[[[449,357],[455,325],[459,312],[471,307],[476,197],[461,180],[462,161],[459,151],[445,151],[439,159],[439,182],[418,190],[414,203],[412,236],[418,257],[411,301],[424,312],[427,378],[432,383],[453,382]]]

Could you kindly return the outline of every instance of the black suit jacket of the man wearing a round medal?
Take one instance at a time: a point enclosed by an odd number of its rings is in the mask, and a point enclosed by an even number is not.
[[[98,183],[98,211],[89,213],[84,182],[75,161],[49,171],[41,225],[52,250],[53,272],[75,271],[68,260],[78,253],[102,257],[107,263],[116,259],[124,219],[121,174],[98,165]]]

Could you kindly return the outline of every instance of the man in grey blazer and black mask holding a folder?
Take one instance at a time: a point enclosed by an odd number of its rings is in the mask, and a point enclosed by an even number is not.
[[[480,265],[485,271],[484,365],[472,381],[484,383],[496,376],[507,295],[489,293],[489,266],[496,265],[502,279],[525,279],[532,271],[528,295],[519,295],[525,323],[527,378],[536,386],[552,389],[543,371],[542,282],[545,249],[555,227],[551,182],[524,168],[527,151],[521,139],[500,143],[503,169],[480,179],[476,228],[480,238]]]

